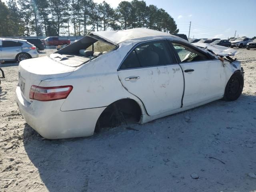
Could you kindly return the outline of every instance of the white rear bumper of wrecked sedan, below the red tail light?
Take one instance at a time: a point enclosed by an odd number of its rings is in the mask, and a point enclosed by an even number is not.
[[[63,100],[27,102],[20,87],[16,88],[16,102],[26,122],[47,139],[91,136],[98,117],[106,107],[60,111]]]

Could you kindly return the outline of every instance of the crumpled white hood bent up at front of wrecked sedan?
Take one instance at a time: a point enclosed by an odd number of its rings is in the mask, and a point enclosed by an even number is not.
[[[206,50],[211,50],[218,56],[232,56],[237,54],[237,51],[232,49],[232,48],[227,48],[224,46],[220,45],[215,45],[215,44],[208,44],[208,43],[193,43],[195,46],[198,46],[200,48],[206,49]]]

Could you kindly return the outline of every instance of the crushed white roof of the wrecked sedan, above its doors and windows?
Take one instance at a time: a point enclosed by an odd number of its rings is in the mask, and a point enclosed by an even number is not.
[[[145,28],[134,28],[134,29],[117,30],[117,31],[94,31],[94,32],[91,32],[91,34],[100,36],[116,44],[119,44],[127,40],[134,40],[134,39],[145,38],[145,37],[169,36],[174,39],[180,40],[179,37],[168,34],[166,32],[156,31],[152,29],[145,29]]]

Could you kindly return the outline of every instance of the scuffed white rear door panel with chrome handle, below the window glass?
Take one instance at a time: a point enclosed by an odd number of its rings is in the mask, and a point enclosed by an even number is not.
[[[178,64],[120,70],[118,76],[124,88],[142,100],[150,116],[181,107],[184,78]]]

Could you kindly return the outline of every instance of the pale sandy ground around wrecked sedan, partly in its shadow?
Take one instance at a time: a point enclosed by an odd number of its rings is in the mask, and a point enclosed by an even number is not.
[[[238,100],[67,140],[44,140],[26,124],[15,102],[18,64],[2,64],[0,192],[256,191],[256,50],[239,52]]]

